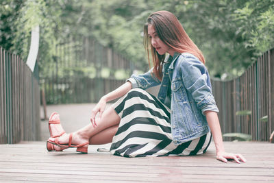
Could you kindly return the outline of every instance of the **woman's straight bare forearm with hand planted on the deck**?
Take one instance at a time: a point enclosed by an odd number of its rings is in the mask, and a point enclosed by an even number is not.
[[[234,159],[238,163],[240,163],[239,160],[242,160],[242,162],[246,162],[247,160],[245,160],[245,158],[241,154],[225,152],[225,147],[223,147],[223,137],[222,137],[221,127],[220,127],[217,113],[214,111],[208,110],[204,112],[204,114],[206,115],[206,120],[208,121],[208,125],[210,126],[210,130],[212,132],[212,136],[214,139],[217,160],[227,162],[227,159]]]

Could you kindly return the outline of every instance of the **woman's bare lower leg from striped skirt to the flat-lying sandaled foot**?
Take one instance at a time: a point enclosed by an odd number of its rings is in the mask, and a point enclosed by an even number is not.
[[[103,112],[103,115],[99,121],[97,121],[97,126],[93,127],[93,125],[90,123],[89,125],[86,125],[80,130],[77,130],[76,132],[73,132],[73,139],[72,144],[78,145],[82,143],[86,143],[89,141],[95,141],[97,144],[99,144],[99,138],[105,138],[105,140],[101,140],[101,142],[109,142],[110,139],[114,136],[116,133],[115,130],[118,129],[118,125],[120,123],[120,117],[114,110],[114,108],[109,107]],[[113,127],[113,128],[112,128]],[[110,128],[110,129],[108,129]],[[108,130],[106,130],[108,129]],[[106,130],[105,132],[102,132],[102,134],[99,134],[99,132]],[[115,133],[114,133],[115,132]],[[98,134],[99,136],[95,136]],[[95,138],[92,140],[92,136],[95,136]],[[90,140],[91,138],[91,140]],[[50,138],[51,141],[54,141],[54,138]],[[64,134],[60,136],[58,143],[60,144],[68,144],[69,143],[69,134]],[[92,143],[92,142],[91,142]],[[92,143],[92,144],[95,144]]]

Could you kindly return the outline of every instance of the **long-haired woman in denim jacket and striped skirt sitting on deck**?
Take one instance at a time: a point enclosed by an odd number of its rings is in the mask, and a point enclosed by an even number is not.
[[[218,160],[245,162],[242,155],[225,152],[203,54],[177,18],[171,12],[155,12],[147,19],[144,33],[153,68],[132,75],[103,96],[92,110],[91,124],[73,134],[64,134],[58,114],[53,114],[47,149],[77,147],[87,153],[89,144],[112,143],[110,152],[119,156],[188,156],[205,153],[213,136]],[[145,91],[157,85],[158,97]],[[108,101],[119,97],[105,110]]]

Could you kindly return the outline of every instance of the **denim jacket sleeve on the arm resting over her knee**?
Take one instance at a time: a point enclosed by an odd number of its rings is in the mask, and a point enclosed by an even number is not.
[[[152,86],[157,86],[161,84],[160,80],[152,73],[152,69],[150,69],[147,73],[140,75],[132,75],[127,79],[127,81],[132,83],[132,88],[142,88],[146,90]]]

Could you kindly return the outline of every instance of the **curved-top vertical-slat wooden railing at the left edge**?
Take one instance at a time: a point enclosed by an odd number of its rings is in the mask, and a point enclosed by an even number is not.
[[[0,47],[0,143],[40,140],[38,69]]]

